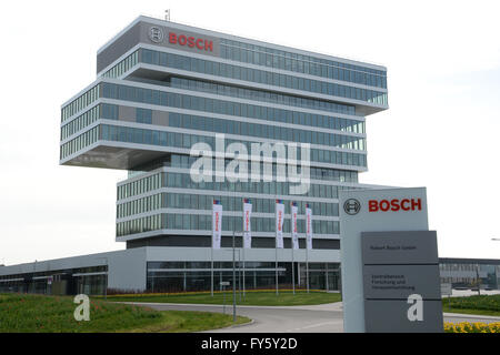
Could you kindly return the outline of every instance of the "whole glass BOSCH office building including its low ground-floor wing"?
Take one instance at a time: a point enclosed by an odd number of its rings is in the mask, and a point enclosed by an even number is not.
[[[61,108],[61,165],[128,171],[116,227],[127,250],[0,267],[0,287],[34,291],[50,280],[60,293],[210,290],[212,260],[217,284],[232,275],[234,234],[247,288],[274,286],[276,258],[282,286],[292,274],[304,286],[308,257],[310,286],[340,290],[338,192],[371,187],[358,183],[364,122],[387,109],[384,67],[139,17],[98,51],[96,81]],[[243,151],[257,155],[246,161]],[[222,175],[201,179],[193,166],[202,158]],[[243,199],[253,206],[244,251]],[[212,252],[213,200],[223,217]],[[276,200],[286,206],[278,253]],[[293,255],[291,202],[300,214]]]

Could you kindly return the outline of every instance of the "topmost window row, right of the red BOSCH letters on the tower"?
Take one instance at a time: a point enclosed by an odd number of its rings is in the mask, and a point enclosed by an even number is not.
[[[364,85],[387,88],[386,71],[227,39],[221,39],[220,41],[220,57],[226,59]]]

